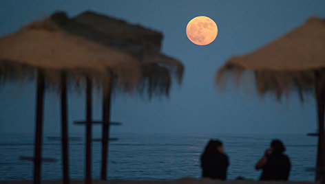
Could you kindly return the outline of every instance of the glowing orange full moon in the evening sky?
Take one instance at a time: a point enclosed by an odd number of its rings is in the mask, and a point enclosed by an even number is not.
[[[216,39],[218,27],[207,16],[196,16],[187,23],[187,38],[196,45],[208,45]]]

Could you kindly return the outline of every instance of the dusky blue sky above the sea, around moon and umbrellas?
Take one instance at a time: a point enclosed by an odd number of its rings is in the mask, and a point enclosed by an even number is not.
[[[313,97],[302,105],[293,94],[277,102],[259,97],[253,88],[224,91],[213,83],[216,70],[234,54],[244,54],[301,25],[309,16],[325,18],[325,1],[87,1],[1,0],[0,36],[56,10],[70,16],[94,10],[131,23],[160,30],[162,51],[185,65],[182,86],[170,97],[143,100],[137,95],[116,95],[112,121],[123,122],[114,132],[125,133],[306,133],[316,129]],[[185,34],[193,17],[216,21],[218,36],[207,46],[194,45]],[[0,132],[34,131],[35,84],[0,87]],[[98,97],[96,97],[98,96]],[[101,117],[101,93],[94,94],[94,118]],[[83,132],[72,120],[85,119],[84,94],[69,93],[70,132]],[[59,133],[59,96],[46,93],[45,133]],[[95,128],[98,131],[99,128]]]

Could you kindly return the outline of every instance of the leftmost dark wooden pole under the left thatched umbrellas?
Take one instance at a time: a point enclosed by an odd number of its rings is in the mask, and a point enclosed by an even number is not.
[[[34,146],[34,184],[41,183],[41,155],[45,82],[43,71],[37,73],[36,128]]]

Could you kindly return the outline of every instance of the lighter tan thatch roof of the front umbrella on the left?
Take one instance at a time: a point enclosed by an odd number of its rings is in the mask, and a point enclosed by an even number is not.
[[[30,23],[0,38],[1,82],[30,78],[36,69],[42,69],[46,82],[54,86],[61,71],[77,81],[84,76],[98,81],[111,69],[128,87],[141,77],[132,56],[68,34],[51,19]]]

